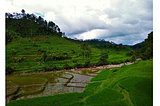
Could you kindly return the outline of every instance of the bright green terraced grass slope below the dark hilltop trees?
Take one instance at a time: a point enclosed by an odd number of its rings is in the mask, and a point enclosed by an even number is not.
[[[118,64],[131,58],[126,56],[130,49],[116,51],[111,48],[101,50],[94,46],[90,47],[91,55],[89,60],[92,65],[98,63],[102,51],[109,51],[109,64]],[[48,55],[45,62],[42,59],[44,52]],[[68,58],[50,60],[49,55]],[[6,45],[6,66],[10,66],[16,72],[47,71],[44,70],[46,66],[53,70],[53,65],[56,66],[56,70],[61,70],[64,69],[66,62],[71,68],[74,68],[76,63],[84,66],[87,59],[82,56],[79,43],[56,36],[18,37]]]

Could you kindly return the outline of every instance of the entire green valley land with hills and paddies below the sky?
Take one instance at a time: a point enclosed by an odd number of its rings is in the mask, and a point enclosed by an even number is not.
[[[134,45],[73,39],[24,9],[5,24],[6,106],[153,106],[153,31]]]

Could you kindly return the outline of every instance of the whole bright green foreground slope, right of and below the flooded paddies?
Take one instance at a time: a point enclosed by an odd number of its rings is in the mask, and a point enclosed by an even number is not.
[[[83,93],[22,99],[7,106],[152,106],[153,60],[100,72]]]

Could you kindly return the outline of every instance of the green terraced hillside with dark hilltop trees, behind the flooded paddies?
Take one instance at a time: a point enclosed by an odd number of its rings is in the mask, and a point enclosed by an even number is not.
[[[122,44],[69,39],[62,37],[54,22],[45,24],[43,18],[35,18],[32,14],[10,16],[6,16],[6,74],[118,64],[131,60],[131,56],[126,56],[131,49]],[[83,44],[87,49],[82,47]]]

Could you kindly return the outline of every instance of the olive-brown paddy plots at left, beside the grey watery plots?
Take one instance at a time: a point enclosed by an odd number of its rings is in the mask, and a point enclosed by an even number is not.
[[[23,95],[36,94],[43,91],[45,84],[55,83],[55,79],[63,75],[63,72],[57,73],[35,73],[24,75],[6,76],[6,96],[14,95],[13,99]],[[15,93],[18,92],[19,93]]]

